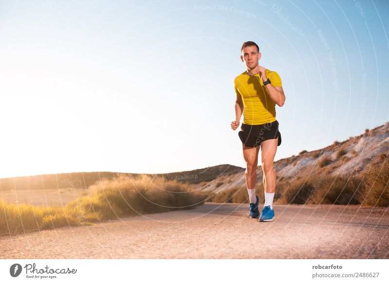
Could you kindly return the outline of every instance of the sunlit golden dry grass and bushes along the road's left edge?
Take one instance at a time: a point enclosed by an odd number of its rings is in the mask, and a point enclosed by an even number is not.
[[[189,184],[163,177],[119,175],[103,179],[64,207],[44,207],[0,202],[0,235],[91,225],[124,216],[192,209],[204,203]]]

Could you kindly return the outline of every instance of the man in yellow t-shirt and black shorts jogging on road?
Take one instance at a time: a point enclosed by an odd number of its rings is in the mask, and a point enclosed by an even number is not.
[[[243,157],[246,161],[249,216],[259,218],[259,222],[273,221],[273,198],[276,189],[273,162],[277,146],[281,144],[275,105],[282,107],[285,95],[278,73],[259,65],[262,54],[255,42],[244,42],[241,53],[240,58],[245,63],[247,71],[234,79],[235,121],[231,122],[231,128],[233,130],[238,128],[243,114],[244,119],[238,135],[242,141]],[[259,148],[265,187],[265,205],[261,214],[258,210],[259,197],[255,194]]]

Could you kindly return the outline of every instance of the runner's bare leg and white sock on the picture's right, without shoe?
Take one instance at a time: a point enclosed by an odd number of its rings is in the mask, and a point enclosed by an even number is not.
[[[261,142],[261,160],[262,171],[264,173],[265,187],[265,206],[270,205],[273,209],[273,197],[276,191],[276,172],[273,163],[277,152],[277,139],[266,140]]]

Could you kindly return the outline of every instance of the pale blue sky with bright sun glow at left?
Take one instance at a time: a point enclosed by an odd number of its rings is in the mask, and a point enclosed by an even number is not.
[[[0,177],[245,168],[230,123],[248,40],[282,79],[275,161],[347,140],[389,121],[388,16],[384,0],[0,0]]]

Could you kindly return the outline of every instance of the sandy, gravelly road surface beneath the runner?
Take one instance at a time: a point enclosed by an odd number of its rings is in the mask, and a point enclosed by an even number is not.
[[[276,205],[276,220],[248,204],[205,203],[94,226],[0,237],[4,259],[389,258],[389,209]]]

